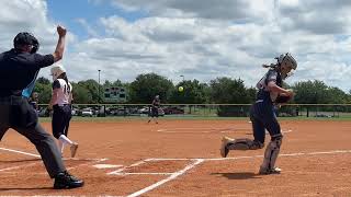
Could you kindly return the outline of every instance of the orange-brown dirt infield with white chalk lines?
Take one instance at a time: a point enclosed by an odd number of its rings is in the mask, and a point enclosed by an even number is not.
[[[86,186],[69,190],[52,189],[32,143],[10,130],[0,143],[0,196],[351,196],[351,123],[281,126],[283,172],[258,175],[264,149],[219,155],[222,136],[251,138],[247,120],[72,121],[80,147],[65,163]]]

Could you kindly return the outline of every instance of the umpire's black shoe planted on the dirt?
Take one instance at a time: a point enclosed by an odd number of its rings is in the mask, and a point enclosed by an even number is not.
[[[58,173],[55,177],[54,188],[55,189],[66,189],[66,188],[76,188],[82,187],[84,182],[78,179],[77,177],[70,175],[67,171]]]

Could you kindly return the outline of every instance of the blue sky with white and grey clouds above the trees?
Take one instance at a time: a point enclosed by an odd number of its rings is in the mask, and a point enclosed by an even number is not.
[[[38,53],[53,53],[56,25],[67,26],[60,63],[72,81],[97,80],[101,70],[101,81],[156,72],[173,83],[228,77],[254,86],[267,72],[262,63],[291,53],[298,66],[288,84],[351,89],[351,1],[14,0],[0,9],[2,50],[29,31]]]

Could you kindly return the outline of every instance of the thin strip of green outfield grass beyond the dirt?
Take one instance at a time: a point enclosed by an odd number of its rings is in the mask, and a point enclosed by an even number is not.
[[[191,115],[167,115],[159,117],[162,119],[183,119],[183,120],[249,120],[249,117],[217,117],[217,116],[191,116]],[[331,121],[347,121],[351,120],[351,116],[340,116],[340,117],[279,117],[281,120],[331,120]],[[123,121],[123,120],[148,120],[147,116],[107,116],[107,117],[80,117],[73,116],[71,121]],[[52,121],[50,117],[41,117],[39,121],[46,123]]]

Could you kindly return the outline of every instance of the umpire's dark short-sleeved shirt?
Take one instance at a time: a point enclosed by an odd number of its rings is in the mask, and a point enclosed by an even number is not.
[[[21,95],[41,68],[54,63],[53,55],[18,53],[0,54],[0,96]]]

